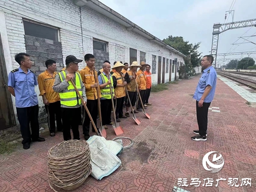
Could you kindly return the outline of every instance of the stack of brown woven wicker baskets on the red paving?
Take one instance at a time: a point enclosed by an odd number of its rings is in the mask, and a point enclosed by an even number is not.
[[[56,191],[78,188],[92,172],[89,145],[85,140],[63,141],[48,151],[47,174]]]

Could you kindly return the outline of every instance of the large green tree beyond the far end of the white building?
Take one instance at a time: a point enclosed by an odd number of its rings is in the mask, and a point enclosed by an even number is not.
[[[184,55],[188,56],[191,54],[191,64],[193,67],[199,66],[202,60],[201,53],[198,52],[198,48],[200,47],[200,43],[192,44],[188,41],[184,41],[183,37],[173,37],[168,36],[168,38],[163,40],[166,44],[172,46],[176,50],[179,50]]]

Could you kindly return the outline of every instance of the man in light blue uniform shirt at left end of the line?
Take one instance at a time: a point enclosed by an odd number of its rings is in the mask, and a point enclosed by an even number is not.
[[[35,72],[28,69],[32,66],[30,56],[26,53],[19,53],[15,56],[15,60],[20,67],[9,73],[8,90],[15,97],[23,148],[29,149],[31,139],[32,141],[45,141],[44,138],[39,137],[39,107],[35,92],[35,86],[38,83]],[[30,134],[29,124],[32,134]]]

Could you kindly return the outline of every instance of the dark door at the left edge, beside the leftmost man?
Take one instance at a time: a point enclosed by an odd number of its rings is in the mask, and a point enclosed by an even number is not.
[[[8,91],[8,76],[0,34],[0,130],[15,125],[12,98]]]

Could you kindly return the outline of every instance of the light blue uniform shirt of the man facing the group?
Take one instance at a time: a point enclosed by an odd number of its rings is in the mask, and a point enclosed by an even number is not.
[[[197,101],[200,101],[202,95],[204,94],[204,90],[206,86],[210,85],[212,89],[210,90],[209,94],[204,99],[204,102],[210,103],[213,100],[215,89],[217,83],[217,73],[216,70],[210,66],[203,70],[202,76],[199,79],[198,85],[196,87],[196,92],[193,98]]]

